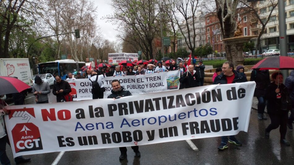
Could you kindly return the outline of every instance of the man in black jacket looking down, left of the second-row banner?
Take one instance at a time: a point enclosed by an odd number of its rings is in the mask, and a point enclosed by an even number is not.
[[[71,86],[67,81],[64,81],[60,76],[55,77],[56,83],[53,85],[52,93],[56,95],[57,102],[64,102],[64,95],[71,92]]]

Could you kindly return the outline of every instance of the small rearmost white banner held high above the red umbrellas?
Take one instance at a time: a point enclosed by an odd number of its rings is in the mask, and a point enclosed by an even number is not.
[[[138,53],[108,53],[108,63],[118,64],[123,60],[138,61]]]

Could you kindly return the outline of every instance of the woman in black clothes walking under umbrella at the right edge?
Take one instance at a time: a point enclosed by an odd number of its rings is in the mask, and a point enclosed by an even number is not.
[[[283,74],[273,73],[273,82],[266,88],[267,113],[270,116],[270,125],[266,128],[265,137],[270,138],[270,131],[280,126],[280,142],[286,146],[290,143],[285,139],[287,132],[288,112],[291,109],[291,100],[287,87],[283,84]]]

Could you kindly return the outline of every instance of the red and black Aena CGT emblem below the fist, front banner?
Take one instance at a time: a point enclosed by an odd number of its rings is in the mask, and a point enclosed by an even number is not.
[[[11,131],[15,153],[43,150],[39,128],[33,123],[19,123]]]

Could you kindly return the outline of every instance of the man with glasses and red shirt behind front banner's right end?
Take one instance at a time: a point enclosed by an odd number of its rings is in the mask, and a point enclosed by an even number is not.
[[[226,61],[223,63],[222,67],[223,73],[219,74],[215,79],[213,84],[231,84],[239,82],[247,82],[247,78],[244,74],[239,74],[234,70],[234,64],[231,61]],[[241,146],[242,143],[239,142],[234,135],[222,136],[221,144],[218,146],[219,150],[228,148],[227,142]]]

